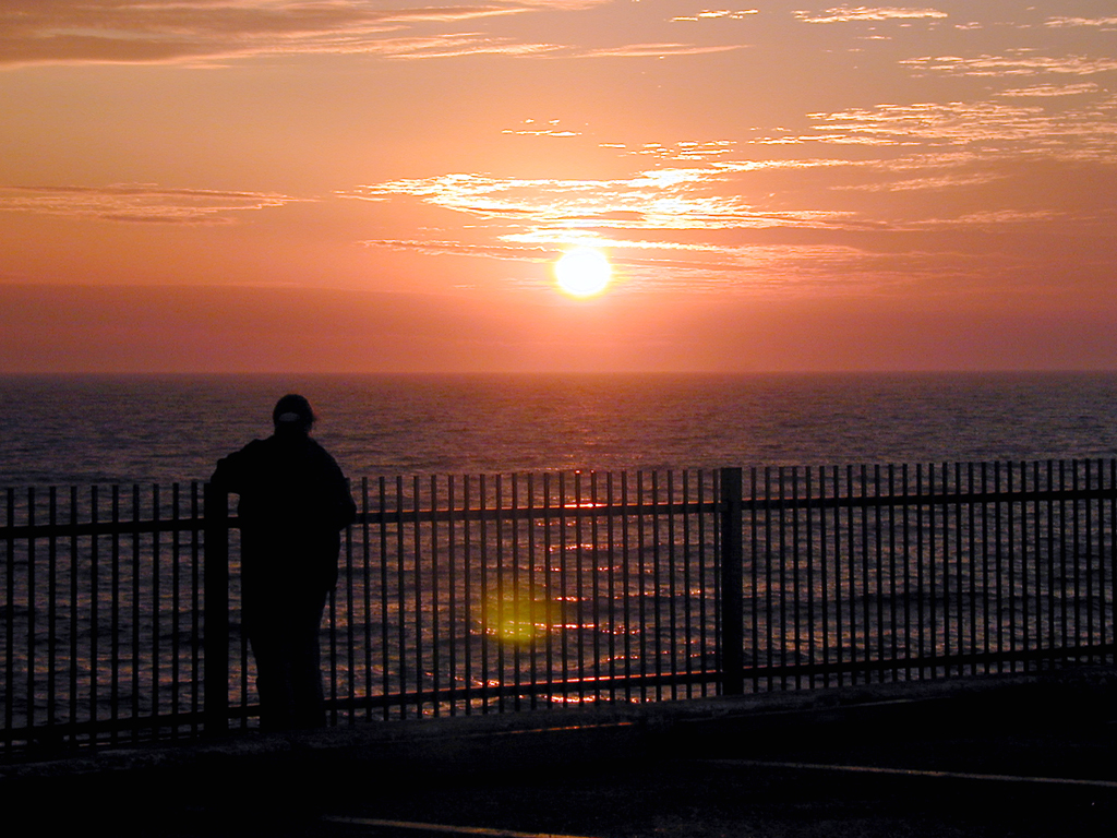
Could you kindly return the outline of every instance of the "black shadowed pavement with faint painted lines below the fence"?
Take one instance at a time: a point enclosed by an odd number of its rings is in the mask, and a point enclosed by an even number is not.
[[[1117,674],[117,750],[0,765],[0,796],[47,835],[1108,838]]]

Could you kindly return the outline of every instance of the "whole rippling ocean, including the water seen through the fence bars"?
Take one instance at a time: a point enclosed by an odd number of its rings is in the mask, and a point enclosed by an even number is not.
[[[1081,460],[1117,451],[1117,373],[22,375],[0,378],[0,488],[36,487],[37,521],[44,522],[50,495],[41,489],[78,487],[57,493],[57,520],[66,522],[71,508],[75,520],[90,520],[95,493],[87,487],[121,486],[124,517],[131,499],[142,496],[137,514],[145,518],[159,506],[154,486],[206,480],[219,457],[270,432],[273,404],[292,391],[315,406],[316,436],[354,482]],[[938,470],[942,480],[949,470]],[[1061,483],[1062,472],[1054,474]],[[710,477],[703,478],[707,486]],[[9,523],[18,527],[31,493],[4,495]],[[109,495],[99,495],[103,516]],[[171,496],[159,495],[163,521],[172,516]],[[390,498],[389,508],[395,503]],[[370,508],[375,505],[373,498]],[[894,657],[948,655],[987,651],[991,642],[1088,644],[1098,631],[1102,638],[1111,632],[1113,572],[1102,530],[1117,507],[1090,507],[1081,517],[1078,505],[1068,513],[1063,503],[1037,503],[1019,515],[1014,507],[971,506],[968,517],[961,506],[953,514],[944,508],[904,513],[903,526],[926,525],[926,542],[913,536],[914,547],[906,528],[903,543],[886,545],[870,528],[869,512],[860,518],[847,512],[841,537],[836,512],[823,526],[832,526],[822,536],[830,546],[813,553],[795,547],[794,513],[790,522],[777,514],[754,528],[747,651],[768,663],[813,664],[843,654],[865,660],[888,647]],[[876,526],[882,521],[877,511]],[[1040,537],[1049,524],[1051,534]],[[571,516],[490,525],[486,535],[484,525],[459,522],[443,526],[437,550],[432,530],[392,530],[391,522],[383,532],[354,527],[324,632],[331,695],[561,680],[567,664],[579,672],[584,665],[594,677],[618,667],[704,669],[717,653],[710,525],[703,531],[640,515],[618,521],[615,533],[613,526]],[[34,549],[22,536],[3,541],[0,659],[8,683],[0,704],[16,727],[197,710],[198,539],[122,532],[39,537]],[[510,544],[502,547],[502,539]],[[1029,539],[1027,566],[1023,554],[1002,562],[1002,547],[1013,554],[1013,544]],[[239,632],[235,549],[232,560],[230,701],[245,706],[255,691]],[[526,630],[532,646],[525,650],[522,640],[505,637],[505,622]],[[576,692],[547,701],[589,701],[582,687]],[[487,708],[490,698],[465,701]],[[503,706],[503,697],[493,699]]]

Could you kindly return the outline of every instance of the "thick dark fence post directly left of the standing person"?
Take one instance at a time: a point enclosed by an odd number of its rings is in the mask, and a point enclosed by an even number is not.
[[[213,735],[229,730],[229,493],[210,483],[204,493],[203,710],[206,734]]]

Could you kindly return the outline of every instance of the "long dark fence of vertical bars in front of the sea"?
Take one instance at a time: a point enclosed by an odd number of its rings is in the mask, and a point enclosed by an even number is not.
[[[1117,460],[353,488],[335,724],[1114,660]],[[227,496],[3,503],[0,750],[255,724]]]

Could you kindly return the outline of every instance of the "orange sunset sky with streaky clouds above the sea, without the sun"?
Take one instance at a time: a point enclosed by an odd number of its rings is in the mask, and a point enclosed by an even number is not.
[[[0,114],[0,372],[1117,369],[1111,1],[3,0]]]

